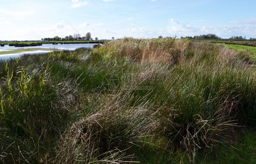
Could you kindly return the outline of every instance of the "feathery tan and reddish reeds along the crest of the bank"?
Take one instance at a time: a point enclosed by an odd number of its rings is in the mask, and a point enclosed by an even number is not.
[[[177,63],[180,54],[189,46],[189,40],[164,39],[133,39],[124,38],[104,43],[96,49],[105,57],[128,57],[136,61],[149,61],[151,63]]]

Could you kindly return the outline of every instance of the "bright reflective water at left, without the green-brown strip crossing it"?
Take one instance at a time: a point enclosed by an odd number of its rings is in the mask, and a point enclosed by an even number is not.
[[[38,54],[38,53],[49,53],[53,50],[75,50],[77,48],[92,48],[95,43],[87,43],[87,44],[43,44],[42,46],[33,46],[33,47],[14,47],[5,45],[4,47],[0,47],[0,52],[7,52],[13,49],[25,49],[25,48],[51,48],[50,51],[38,50],[38,51],[26,51],[21,53],[11,53],[11,54],[2,54],[0,55],[0,60],[8,60],[10,58],[18,58],[24,54]]]

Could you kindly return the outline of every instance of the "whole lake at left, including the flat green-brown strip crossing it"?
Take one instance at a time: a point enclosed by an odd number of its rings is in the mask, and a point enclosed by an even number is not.
[[[14,47],[5,45],[0,47],[0,60],[8,60],[10,58],[17,58],[24,54],[38,54],[49,53],[53,50],[75,50],[77,48],[92,48],[96,43],[85,44],[43,44],[42,46],[33,47]],[[12,53],[15,52],[15,53]]]

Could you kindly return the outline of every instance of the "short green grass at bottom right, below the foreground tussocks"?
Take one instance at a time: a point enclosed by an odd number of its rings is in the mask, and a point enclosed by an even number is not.
[[[142,164],[178,164],[189,161],[188,156],[180,150],[168,153],[168,150],[163,150],[152,144],[142,145],[139,151],[135,151],[135,154]],[[225,147],[220,145],[219,150],[212,152],[198,150],[198,156],[195,158],[195,163],[197,164],[254,164],[255,162],[255,130],[242,130],[239,133],[239,140],[232,146]]]

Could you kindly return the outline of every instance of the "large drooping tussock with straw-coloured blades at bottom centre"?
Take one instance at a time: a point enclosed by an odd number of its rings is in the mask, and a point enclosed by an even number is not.
[[[125,150],[136,145],[151,126],[150,111],[146,104],[130,107],[122,98],[112,96],[99,103],[97,109],[90,109],[79,116],[64,133],[61,141],[61,155],[57,162],[74,163],[80,159],[84,163],[93,162],[132,162]],[[102,101],[102,100],[101,100]],[[129,158],[128,158],[129,157]],[[108,159],[108,160],[107,160]]]

